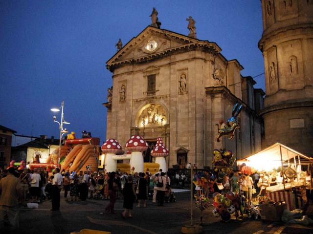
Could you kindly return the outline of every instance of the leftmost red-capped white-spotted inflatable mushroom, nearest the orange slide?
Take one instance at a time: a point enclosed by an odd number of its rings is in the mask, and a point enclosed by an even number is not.
[[[101,147],[102,152],[106,153],[104,161],[104,168],[106,172],[112,172],[116,170],[117,163],[113,159],[116,153],[122,152],[122,147],[115,139],[108,139]]]

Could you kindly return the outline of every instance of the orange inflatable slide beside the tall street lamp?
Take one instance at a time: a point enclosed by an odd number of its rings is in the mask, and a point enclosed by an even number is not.
[[[67,140],[64,140],[64,146],[61,146],[60,164],[58,164],[58,148],[53,150],[46,163],[31,163],[29,168],[31,170],[46,168],[48,171],[52,171],[59,167],[61,171],[69,170],[70,172],[98,170],[99,142],[99,138],[91,137],[91,134],[86,131],[83,131],[83,138],[75,138],[75,133],[72,132],[67,135]]]

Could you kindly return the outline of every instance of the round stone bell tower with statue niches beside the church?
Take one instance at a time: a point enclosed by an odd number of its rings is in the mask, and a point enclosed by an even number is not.
[[[266,148],[282,143],[313,156],[313,0],[261,0]]]

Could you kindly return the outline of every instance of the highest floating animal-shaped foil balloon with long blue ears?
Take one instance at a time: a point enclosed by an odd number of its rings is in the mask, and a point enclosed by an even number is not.
[[[228,139],[233,139],[237,128],[240,128],[237,117],[241,112],[243,105],[239,106],[238,103],[232,109],[231,117],[227,120],[227,123],[224,123],[223,120],[220,120],[220,125],[216,124],[218,129],[217,142],[220,142],[222,136],[228,136]]]

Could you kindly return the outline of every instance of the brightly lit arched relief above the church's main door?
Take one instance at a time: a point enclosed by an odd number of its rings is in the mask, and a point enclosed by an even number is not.
[[[145,106],[137,119],[139,127],[163,126],[167,124],[166,110],[157,104]]]

